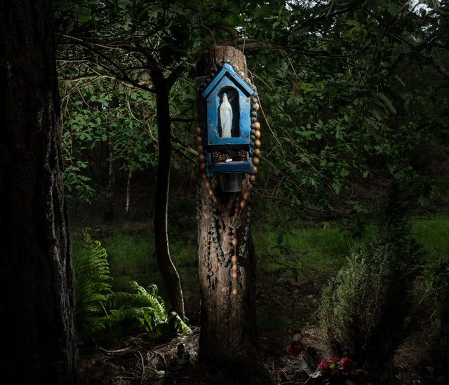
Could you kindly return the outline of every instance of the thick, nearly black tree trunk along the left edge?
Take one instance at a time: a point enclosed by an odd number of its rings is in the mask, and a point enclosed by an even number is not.
[[[48,1],[0,5],[2,384],[77,384],[74,276],[62,189]]]

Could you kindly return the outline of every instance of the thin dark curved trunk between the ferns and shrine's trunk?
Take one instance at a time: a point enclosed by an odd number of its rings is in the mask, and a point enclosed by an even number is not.
[[[168,247],[168,191],[171,167],[169,89],[161,72],[152,71],[152,79],[157,93],[156,110],[159,140],[156,191],[154,191],[154,248],[170,303],[178,316],[184,320],[184,297],[182,296],[180,276],[171,260],[170,248]]]

